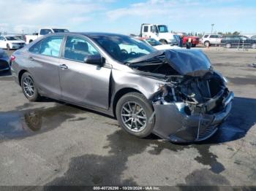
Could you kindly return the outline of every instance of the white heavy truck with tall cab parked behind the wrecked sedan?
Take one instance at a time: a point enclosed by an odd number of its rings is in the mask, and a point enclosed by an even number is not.
[[[179,44],[179,36],[170,33],[165,25],[143,23],[140,27],[140,37],[153,38],[162,44]]]

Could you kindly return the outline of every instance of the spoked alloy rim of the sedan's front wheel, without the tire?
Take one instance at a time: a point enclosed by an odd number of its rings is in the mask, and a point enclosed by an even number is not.
[[[121,120],[133,132],[140,132],[146,128],[146,112],[135,101],[127,101],[121,106]]]

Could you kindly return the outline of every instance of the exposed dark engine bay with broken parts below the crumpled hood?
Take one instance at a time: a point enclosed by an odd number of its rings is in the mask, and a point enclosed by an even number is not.
[[[208,72],[203,77],[176,77],[168,85],[159,87],[153,104],[184,103],[187,115],[212,114],[221,111],[222,101],[228,95],[225,82],[218,74]]]

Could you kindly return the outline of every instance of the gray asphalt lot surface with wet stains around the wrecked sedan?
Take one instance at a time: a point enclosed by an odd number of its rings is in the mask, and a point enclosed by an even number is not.
[[[111,117],[29,102],[1,73],[0,185],[256,185],[256,51],[203,51],[236,98],[217,133],[197,144],[138,139]]]

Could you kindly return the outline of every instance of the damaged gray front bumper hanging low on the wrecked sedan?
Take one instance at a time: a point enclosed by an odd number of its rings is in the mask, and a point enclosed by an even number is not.
[[[186,114],[182,102],[153,104],[153,133],[162,139],[177,143],[208,139],[230,114],[233,98],[233,92],[229,92],[222,101],[222,110],[214,114]],[[211,105],[212,101],[208,104]]]

